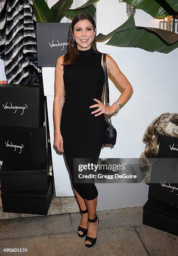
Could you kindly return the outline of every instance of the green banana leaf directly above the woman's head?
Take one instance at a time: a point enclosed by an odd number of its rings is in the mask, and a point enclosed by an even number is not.
[[[84,5],[76,8],[76,9],[65,10],[64,13],[68,18],[71,18],[71,19],[73,19],[79,13],[88,13],[92,17],[94,17],[96,8],[93,5],[93,3],[97,2],[97,1],[98,0],[89,0],[87,3],[85,3]]]

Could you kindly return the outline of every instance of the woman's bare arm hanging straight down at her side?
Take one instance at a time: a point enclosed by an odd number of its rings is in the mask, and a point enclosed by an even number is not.
[[[61,134],[60,134],[60,120],[61,120],[62,108],[64,103],[63,66],[61,66],[61,64],[63,63],[63,56],[64,55],[60,56],[56,61],[55,82],[54,82],[55,97],[54,97],[54,103],[53,103],[55,146],[58,148],[59,151],[61,151],[60,149],[63,148],[63,141],[61,141]]]

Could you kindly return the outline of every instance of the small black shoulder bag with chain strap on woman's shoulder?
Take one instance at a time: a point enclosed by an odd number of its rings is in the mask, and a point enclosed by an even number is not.
[[[105,87],[106,87],[107,107],[110,107],[110,105],[109,105],[109,84],[108,84],[108,72],[107,72],[107,65],[106,65],[106,54],[103,54],[103,63],[104,63],[104,71],[105,71],[105,83],[103,85],[102,103],[105,105],[104,102],[105,102]],[[109,121],[105,118],[105,123],[106,123],[106,130],[105,130],[103,145],[113,144],[113,146],[114,146],[115,142],[116,142],[117,131],[111,123],[110,115],[109,115]]]

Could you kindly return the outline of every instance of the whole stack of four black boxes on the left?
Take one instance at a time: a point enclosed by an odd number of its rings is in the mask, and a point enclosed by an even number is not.
[[[43,126],[43,85],[2,84],[0,95],[3,211],[47,215],[53,196],[53,176],[49,172]]]

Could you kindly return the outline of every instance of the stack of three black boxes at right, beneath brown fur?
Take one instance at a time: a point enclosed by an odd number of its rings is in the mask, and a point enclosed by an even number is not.
[[[158,159],[151,165],[143,224],[178,236],[178,138],[160,137]]]

